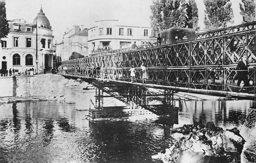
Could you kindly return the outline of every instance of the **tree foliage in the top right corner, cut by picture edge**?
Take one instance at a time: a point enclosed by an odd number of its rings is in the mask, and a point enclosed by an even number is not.
[[[255,21],[255,2],[254,0],[242,0],[243,4],[239,3],[241,15],[243,16],[242,23]]]

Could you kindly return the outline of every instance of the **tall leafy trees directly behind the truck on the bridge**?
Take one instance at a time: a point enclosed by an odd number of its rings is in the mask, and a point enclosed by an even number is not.
[[[154,0],[150,6],[151,27],[159,32],[168,28],[197,28],[198,9],[195,0]]]

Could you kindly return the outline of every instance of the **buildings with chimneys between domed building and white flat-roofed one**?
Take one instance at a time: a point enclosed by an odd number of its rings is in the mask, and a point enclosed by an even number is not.
[[[83,25],[74,25],[73,29],[67,30],[63,40],[56,45],[56,55],[62,61],[78,59],[88,56],[88,30]]]

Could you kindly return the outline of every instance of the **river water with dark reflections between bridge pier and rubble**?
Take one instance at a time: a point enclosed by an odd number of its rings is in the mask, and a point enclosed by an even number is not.
[[[249,100],[239,101],[179,101],[179,125],[205,124],[213,121],[223,128],[240,128],[245,121]]]

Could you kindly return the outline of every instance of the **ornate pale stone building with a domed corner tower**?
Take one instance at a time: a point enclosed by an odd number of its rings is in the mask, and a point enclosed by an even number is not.
[[[1,39],[0,68],[14,69],[16,74],[34,69],[43,73],[53,67],[53,38],[50,21],[42,8],[33,23],[23,19],[9,21],[10,33]]]

